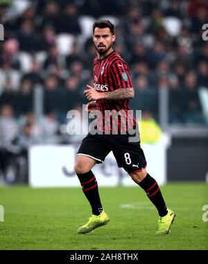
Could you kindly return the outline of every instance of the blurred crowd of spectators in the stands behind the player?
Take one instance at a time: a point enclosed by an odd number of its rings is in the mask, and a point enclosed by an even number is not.
[[[168,122],[206,125],[199,89],[208,89],[206,0],[1,0],[0,168],[26,163],[33,143],[66,143],[67,111],[87,103],[96,55],[92,24],[116,25],[114,49],[127,61],[135,88],[132,109],[158,121],[158,96],[169,93]],[[33,100],[43,87],[44,116],[35,120]],[[13,159],[15,155],[15,161]],[[24,157],[24,158],[23,158]],[[25,173],[20,173],[25,175]],[[7,176],[7,179],[12,176]],[[24,180],[23,180],[24,181]]]

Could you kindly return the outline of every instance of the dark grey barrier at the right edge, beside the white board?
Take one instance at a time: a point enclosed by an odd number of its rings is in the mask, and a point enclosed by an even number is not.
[[[168,181],[202,180],[208,183],[208,134],[200,130],[193,134],[177,132],[168,148],[167,167]]]

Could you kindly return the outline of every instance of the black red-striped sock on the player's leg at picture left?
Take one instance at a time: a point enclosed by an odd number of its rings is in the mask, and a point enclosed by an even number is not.
[[[98,184],[92,171],[87,173],[77,174],[80,184],[83,188],[83,192],[87,197],[91,207],[93,215],[100,215],[103,211],[101,205],[101,199],[98,192]]]

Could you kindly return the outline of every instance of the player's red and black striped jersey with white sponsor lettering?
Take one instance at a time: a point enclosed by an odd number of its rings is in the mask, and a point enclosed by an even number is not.
[[[94,59],[93,81],[94,89],[99,93],[133,87],[128,65],[115,51],[103,59]],[[96,105],[97,110],[102,113],[97,117],[98,130],[112,134],[116,127],[119,133],[123,129],[127,132],[135,127],[136,120],[130,111],[128,100],[101,99],[96,101]]]

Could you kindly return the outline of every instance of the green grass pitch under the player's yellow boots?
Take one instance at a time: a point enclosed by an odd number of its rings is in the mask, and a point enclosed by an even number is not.
[[[139,187],[100,188],[110,223],[79,235],[91,216],[80,188],[0,187],[5,210],[0,249],[208,249],[205,183],[168,183],[166,203],[176,212],[168,235],[155,235],[157,211]]]

